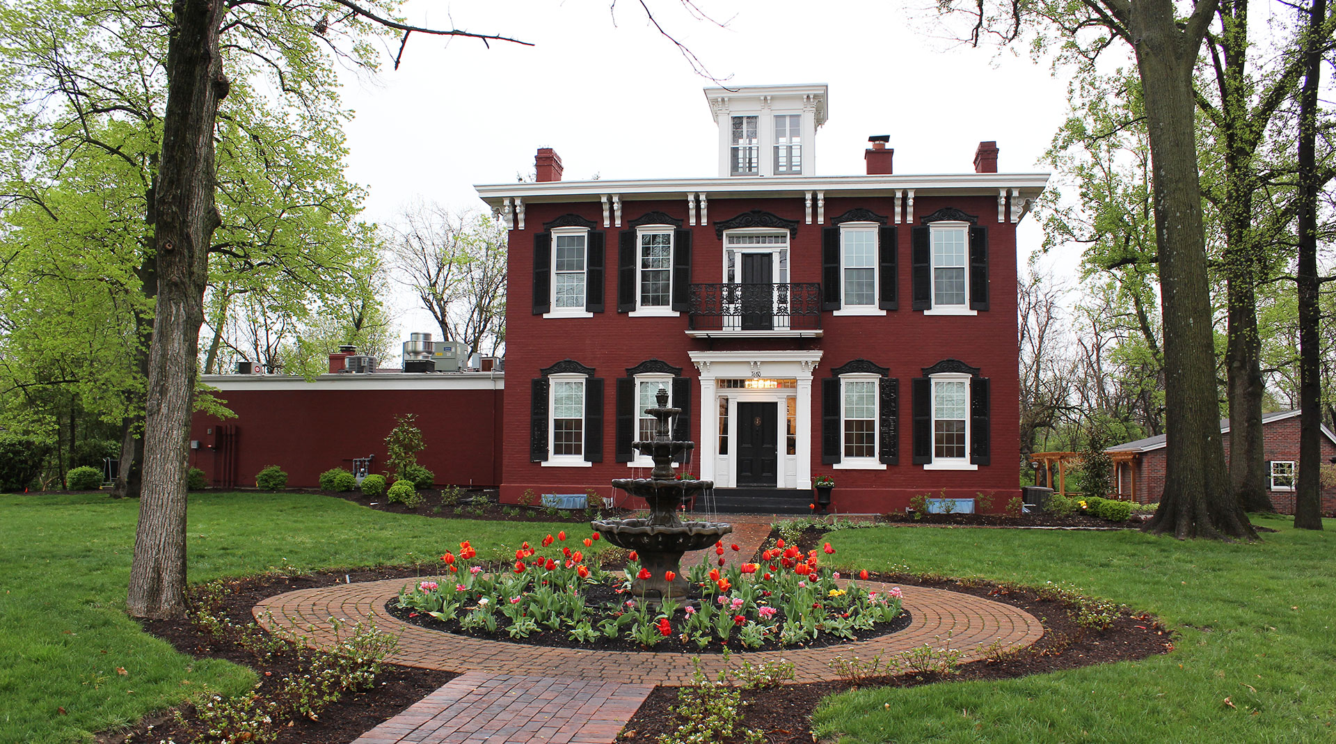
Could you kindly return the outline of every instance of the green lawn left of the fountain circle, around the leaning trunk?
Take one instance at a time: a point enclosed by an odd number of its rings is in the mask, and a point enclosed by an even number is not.
[[[0,494],[0,743],[90,741],[92,732],[204,692],[254,684],[195,660],[128,618],[138,501]],[[421,562],[470,540],[480,558],[565,525],[436,520],[310,494],[191,494],[190,581],[278,569]],[[574,528],[578,530],[580,528]]]

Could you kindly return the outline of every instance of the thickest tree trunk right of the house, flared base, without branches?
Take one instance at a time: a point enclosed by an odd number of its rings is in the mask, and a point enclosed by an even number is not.
[[[1174,537],[1256,533],[1229,493],[1216,391],[1210,287],[1197,176],[1192,72],[1200,39],[1172,3],[1136,0],[1129,28],[1145,91],[1156,199],[1165,355],[1165,490],[1146,524]]]

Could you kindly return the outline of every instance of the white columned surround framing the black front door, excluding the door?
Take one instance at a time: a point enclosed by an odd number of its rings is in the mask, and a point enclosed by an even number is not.
[[[812,480],[812,373],[822,351],[689,351],[700,371],[700,477],[716,486],[733,486],[737,453],[736,401],[779,402],[779,488],[810,489]],[[719,390],[719,379],[794,379],[794,387]],[[728,397],[728,454],[719,454],[719,397]],[[796,398],[794,455],[786,457],[786,398]]]

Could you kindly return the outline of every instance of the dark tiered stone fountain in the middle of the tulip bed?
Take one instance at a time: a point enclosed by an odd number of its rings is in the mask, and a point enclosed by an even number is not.
[[[712,481],[677,480],[677,474],[672,469],[673,459],[680,461],[677,455],[696,445],[672,441],[672,423],[681,409],[668,407],[668,391],[663,387],[659,389],[656,402],[659,403],[656,407],[645,410],[657,419],[653,439],[632,443],[633,447],[653,458],[655,469],[651,470],[648,478],[612,481],[615,488],[649,502],[649,518],[589,522],[589,526],[603,534],[608,542],[640,554],[640,565],[649,570],[649,578],[633,578],[631,590],[637,597],[651,601],[663,597],[685,597],[688,582],[681,570],[681,554],[688,550],[700,550],[733,532],[733,526],[724,522],[684,522],[677,518],[677,509],[688,496],[699,494],[713,488],[715,484]],[[672,581],[665,578],[668,572],[676,574]]]

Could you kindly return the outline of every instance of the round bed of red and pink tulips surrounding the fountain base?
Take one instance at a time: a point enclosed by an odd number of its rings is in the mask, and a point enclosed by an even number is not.
[[[549,534],[540,549],[525,542],[509,570],[492,573],[472,562],[476,553],[464,541],[458,553],[441,557],[446,572],[440,580],[405,589],[389,608],[410,622],[449,632],[580,648],[826,645],[906,624],[899,588],[839,582],[839,573],[820,568],[818,550],[803,554],[783,540],[762,553],[760,564],[740,566],[724,565],[725,546],[716,544],[719,565],[703,561],[683,569],[692,593],[684,601],[659,602],[631,593],[632,577],[648,577],[635,553],[624,569],[604,570],[565,538],[564,532]],[[595,533],[582,542],[589,548],[597,538]],[[824,552],[835,550],[826,544]]]

